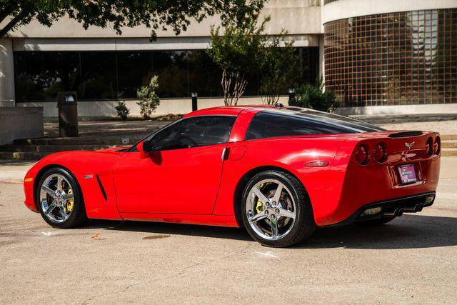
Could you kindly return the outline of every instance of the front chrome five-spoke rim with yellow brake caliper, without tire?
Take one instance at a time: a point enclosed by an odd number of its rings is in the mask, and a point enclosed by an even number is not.
[[[74,190],[61,174],[51,174],[40,186],[41,209],[49,221],[60,224],[69,218],[74,208]]]

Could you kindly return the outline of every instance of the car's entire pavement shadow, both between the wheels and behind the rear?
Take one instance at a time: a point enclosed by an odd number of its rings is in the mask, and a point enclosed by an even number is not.
[[[253,241],[245,229],[149,221],[91,220],[81,229],[135,231]],[[255,241],[253,241],[255,242]],[[381,226],[338,226],[317,229],[295,249],[416,249],[457,245],[457,218],[403,215]]]

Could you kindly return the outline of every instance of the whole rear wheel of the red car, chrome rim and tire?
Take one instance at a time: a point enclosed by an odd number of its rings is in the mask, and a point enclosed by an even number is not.
[[[262,171],[248,181],[242,198],[243,224],[263,246],[291,246],[316,229],[308,195],[290,174]]]

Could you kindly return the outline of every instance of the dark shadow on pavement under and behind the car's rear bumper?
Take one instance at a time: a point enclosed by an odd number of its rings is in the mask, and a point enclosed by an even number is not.
[[[381,226],[318,229],[297,248],[416,249],[457,245],[457,218],[404,215]]]

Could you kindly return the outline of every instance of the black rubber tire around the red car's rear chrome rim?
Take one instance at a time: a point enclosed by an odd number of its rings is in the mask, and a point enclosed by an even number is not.
[[[256,231],[251,228],[251,225],[248,222],[248,216],[246,214],[247,196],[251,188],[264,179],[275,179],[280,181],[288,188],[289,191],[291,191],[293,200],[296,202],[295,223],[293,224],[291,231],[289,231],[289,233],[281,239],[264,239],[262,236],[256,234]],[[241,198],[241,219],[243,220],[243,225],[246,227],[246,230],[251,237],[263,246],[275,248],[292,246],[293,244],[297,244],[311,237],[316,229],[311,201],[309,200],[306,190],[303,188],[303,185],[300,181],[298,181],[298,179],[283,171],[268,170],[256,174],[248,181],[248,184],[246,184]]]

